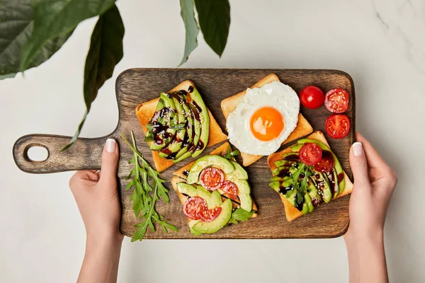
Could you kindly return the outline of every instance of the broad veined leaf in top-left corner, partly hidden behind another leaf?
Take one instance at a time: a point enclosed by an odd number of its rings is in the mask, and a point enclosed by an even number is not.
[[[21,48],[33,33],[33,0],[0,0],[0,79],[12,78],[19,69]],[[37,67],[67,41],[69,33],[48,40],[28,63]]]

